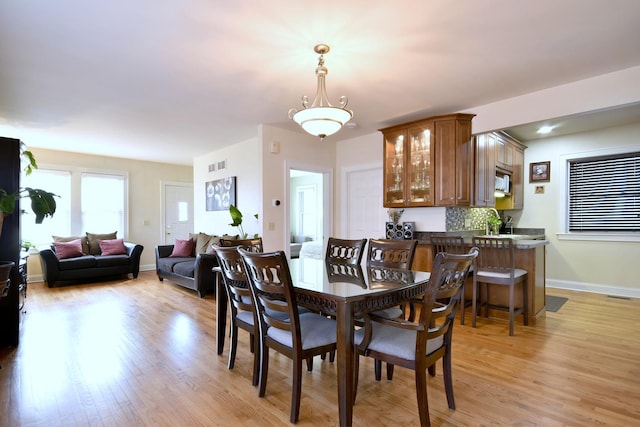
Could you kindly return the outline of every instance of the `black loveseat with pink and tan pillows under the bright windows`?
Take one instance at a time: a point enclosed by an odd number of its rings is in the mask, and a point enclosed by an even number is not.
[[[116,233],[54,236],[51,246],[39,249],[42,274],[50,288],[129,274],[136,278],[143,249],[142,245],[117,239]]]

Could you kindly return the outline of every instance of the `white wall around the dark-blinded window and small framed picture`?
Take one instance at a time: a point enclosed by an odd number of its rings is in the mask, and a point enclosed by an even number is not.
[[[518,227],[544,227],[547,246],[547,286],[640,297],[640,236],[635,241],[566,240],[561,206],[565,180],[561,156],[635,145],[640,150],[640,123],[556,138],[529,141],[525,150],[524,210],[510,211]],[[586,154],[589,155],[589,154]],[[551,162],[548,183],[529,183],[529,163]],[[535,194],[536,185],[544,194]],[[617,289],[612,289],[617,288]]]

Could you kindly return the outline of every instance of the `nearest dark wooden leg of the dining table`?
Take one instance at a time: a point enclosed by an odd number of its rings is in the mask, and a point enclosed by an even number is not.
[[[340,425],[351,426],[353,419],[354,347],[353,347],[353,306],[347,302],[338,304],[336,313],[338,324],[338,407]]]

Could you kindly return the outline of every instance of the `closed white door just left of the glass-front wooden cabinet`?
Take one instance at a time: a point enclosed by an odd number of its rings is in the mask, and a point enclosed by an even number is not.
[[[346,175],[347,238],[384,238],[388,215],[382,207],[382,168],[354,170]]]

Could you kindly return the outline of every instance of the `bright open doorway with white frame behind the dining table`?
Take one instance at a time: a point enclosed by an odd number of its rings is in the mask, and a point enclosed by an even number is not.
[[[297,257],[302,246],[323,253],[332,227],[332,170],[290,165],[287,167],[285,228],[289,257]]]

